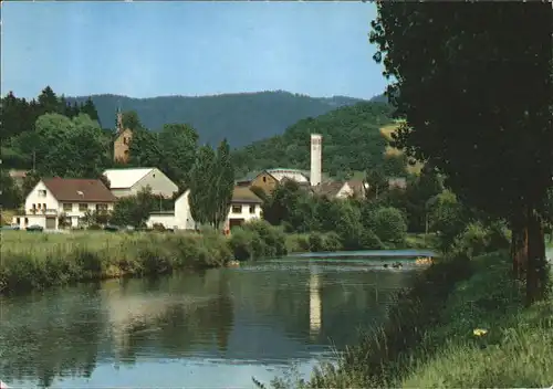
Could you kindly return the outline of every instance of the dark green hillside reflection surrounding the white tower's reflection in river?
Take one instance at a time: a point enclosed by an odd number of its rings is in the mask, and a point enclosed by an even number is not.
[[[310,339],[310,324],[315,319],[310,317],[310,314],[315,315],[310,306],[314,304],[310,302],[314,293],[313,272],[317,273],[315,286],[321,299],[321,317],[316,318],[320,328],[315,333],[319,334]],[[238,298],[249,296],[255,319],[268,320],[272,327],[280,327],[306,343],[330,344],[332,340],[343,348],[356,340],[356,327],[366,328],[385,318],[394,292],[407,286],[410,278],[406,272],[367,272],[365,266],[340,270],[334,264],[330,267],[311,265],[294,272],[270,270],[265,277],[258,272],[241,273],[237,295]]]

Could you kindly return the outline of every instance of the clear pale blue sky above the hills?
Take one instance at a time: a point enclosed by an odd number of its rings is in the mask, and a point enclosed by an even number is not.
[[[369,98],[374,3],[2,1],[1,94]]]

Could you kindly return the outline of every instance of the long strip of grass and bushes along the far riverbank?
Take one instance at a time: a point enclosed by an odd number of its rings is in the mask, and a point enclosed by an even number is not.
[[[344,248],[335,233],[285,234],[281,228],[264,221],[234,229],[230,238],[210,231],[201,234],[3,231],[0,293],[80,281],[166,274],[180,269],[217,267],[232,260]]]

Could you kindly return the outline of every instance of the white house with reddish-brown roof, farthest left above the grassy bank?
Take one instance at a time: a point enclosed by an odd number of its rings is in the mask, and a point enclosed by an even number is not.
[[[56,230],[64,217],[77,227],[86,211],[111,211],[116,200],[101,180],[43,179],[27,196],[24,214],[13,217],[12,223],[21,229],[38,224]]]

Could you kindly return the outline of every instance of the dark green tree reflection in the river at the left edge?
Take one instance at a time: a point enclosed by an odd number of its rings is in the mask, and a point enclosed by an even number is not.
[[[56,377],[90,377],[102,326],[97,287],[81,285],[2,302],[0,377],[49,387]]]

